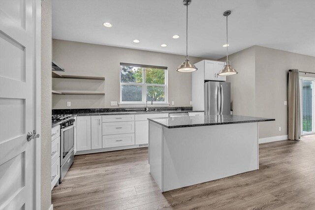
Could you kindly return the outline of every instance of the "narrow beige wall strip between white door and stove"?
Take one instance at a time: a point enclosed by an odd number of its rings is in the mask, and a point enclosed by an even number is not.
[[[41,210],[51,206],[51,0],[41,1]]]

